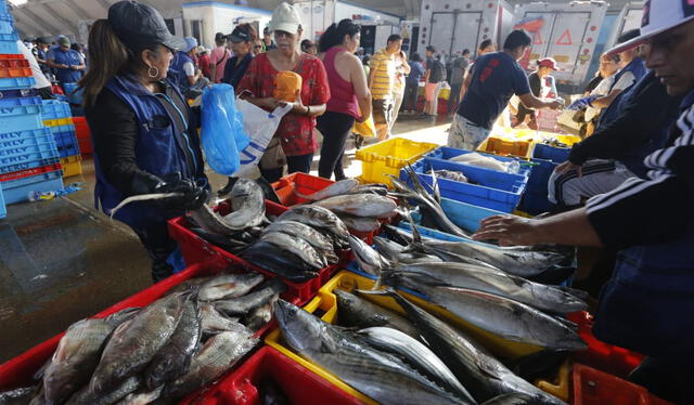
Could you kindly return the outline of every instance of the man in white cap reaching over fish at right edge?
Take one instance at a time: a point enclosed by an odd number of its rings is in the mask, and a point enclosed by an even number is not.
[[[502,245],[555,243],[620,249],[603,288],[595,336],[647,355],[630,376],[654,394],[692,403],[694,360],[694,2],[647,0],[641,36],[646,66],[671,96],[683,96],[668,146],[645,159],[648,179],[631,178],[586,208],[541,220],[492,217],[476,239]],[[570,230],[569,232],[567,232]]]

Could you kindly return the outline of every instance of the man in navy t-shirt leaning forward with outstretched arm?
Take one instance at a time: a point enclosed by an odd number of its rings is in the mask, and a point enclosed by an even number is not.
[[[489,135],[491,127],[517,94],[526,107],[560,108],[560,101],[542,101],[530,92],[528,77],[518,61],[530,49],[532,39],[524,30],[506,37],[502,52],[480,56],[472,67],[470,88],[458,107],[448,135],[448,146],[475,151]]]

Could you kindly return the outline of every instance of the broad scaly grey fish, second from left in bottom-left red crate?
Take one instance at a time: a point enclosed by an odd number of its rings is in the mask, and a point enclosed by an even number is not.
[[[110,392],[146,367],[176,330],[184,299],[184,295],[164,297],[118,326],[92,375],[90,391],[97,395]]]

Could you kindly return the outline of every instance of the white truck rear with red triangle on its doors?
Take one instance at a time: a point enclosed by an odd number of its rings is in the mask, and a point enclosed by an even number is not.
[[[532,48],[520,64],[531,69],[534,61],[553,57],[561,68],[553,74],[557,83],[581,86],[594,56],[607,8],[602,1],[516,5],[514,28],[524,28],[532,36]]]

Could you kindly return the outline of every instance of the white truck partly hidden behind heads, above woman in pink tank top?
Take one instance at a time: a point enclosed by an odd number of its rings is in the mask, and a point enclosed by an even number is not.
[[[402,16],[339,0],[295,0],[301,16],[304,38],[318,41],[333,23],[350,18],[362,25],[361,47],[372,54],[386,44],[388,36],[400,32]]]

